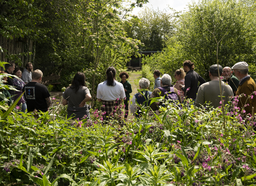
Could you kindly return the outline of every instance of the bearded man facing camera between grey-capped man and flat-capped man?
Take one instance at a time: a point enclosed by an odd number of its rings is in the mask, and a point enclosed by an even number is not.
[[[235,96],[238,88],[239,80],[235,77],[235,75],[233,75],[233,71],[229,66],[226,66],[223,68],[222,76],[224,77],[222,81],[229,84]]]

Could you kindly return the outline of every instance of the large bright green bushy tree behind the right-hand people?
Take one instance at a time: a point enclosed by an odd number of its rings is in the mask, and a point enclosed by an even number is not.
[[[163,52],[144,61],[151,67],[159,65],[161,72],[172,75],[182,67],[183,61],[191,60],[205,79],[209,79],[209,66],[217,64],[217,50],[222,66],[231,67],[239,61],[253,65],[256,54],[254,9],[255,3],[248,5],[233,0],[190,4],[189,11],[180,14],[176,31]]]

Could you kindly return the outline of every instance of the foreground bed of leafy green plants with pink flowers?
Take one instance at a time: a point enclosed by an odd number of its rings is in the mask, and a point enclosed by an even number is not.
[[[228,112],[228,105],[225,133],[219,108],[167,104],[156,117],[148,107],[142,115],[146,120],[120,126],[103,125],[95,111],[91,121],[54,116],[62,109],[55,104],[38,119],[17,110],[2,117],[2,184],[255,184],[252,117],[241,120],[235,108]],[[158,130],[161,139],[154,137]]]

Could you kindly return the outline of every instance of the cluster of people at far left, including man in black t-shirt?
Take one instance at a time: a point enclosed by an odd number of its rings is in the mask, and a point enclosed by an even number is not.
[[[21,111],[33,112],[37,111],[46,112],[51,105],[50,93],[43,84],[41,84],[43,73],[41,70],[33,71],[33,64],[28,63],[25,66],[23,72],[19,67],[15,67],[14,63],[5,64],[5,71],[2,74],[12,74],[14,76],[5,77],[3,80],[9,86],[14,87],[16,90],[10,88],[8,91],[2,89],[3,94],[9,98],[7,104],[11,105],[17,100],[24,92],[22,97],[19,99],[17,105],[21,106]]]

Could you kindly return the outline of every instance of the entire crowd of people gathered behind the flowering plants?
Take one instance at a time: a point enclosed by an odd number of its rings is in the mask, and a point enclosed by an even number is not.
[[[17,105],[22,104],[22,111],[46,112],[51,105],[51,98],[47,88],[41,84],[43,73],[41,70],[33,71],[33,65],[28,63],[26,69],[21,73],[14,63],[5,64],[5,71],[2,74],[13,74],[16,77],[4,77],[6,84],[15,87],[19,91],[10,89],[8,91],[2,89],[5,97],[9,98],[10,105],[14,100],[21,97]],[[164,100],[173,104],[183,103],[185,99],[194,100],[195,106],[201,107],[206,103],[217,108],[222,103],[226,104],[235,95],[239,96],[238,107],[244,108],[246,114],[254,114],[256,108],[256,85],[253,79],[248,74],[249,65],[246,62],[236,63],[232,68],[226,66],[222,69],[221,65],[214,64],[210,66],[209,77],[211,81],[206,82],[197,72],[194,71],[194,63],[187,60],[183,62],[183,68],[175,71],[174,78],[177,80],[172,85],[172,78],[169,74],[163,74],[155,70],[153,75],[155,78],[154,90],[149,91],[150,82],[146,78],[139,81],[139,92],[135,94],[130,103],[130,111],[136,117],[141,115],[141,106],[150,106],[153,111],[159,109],[159,106],[164,106]],[[234,74],[233,75],[233,71]],[[186,72],[186,73],[185,73]],[[101,111],[103,120],[108,120],[118,111],[118,107],[124,102],[125,118],[129,112],[129,101],[132,87],[127,79],[129,74],[121,72],[119,77],[121,82],[116,81],[116,70],[114,67],[108,67],[106,71],[106,81],[101,82],[97,89],[98,102],[102,103]],[[219,80],[221,77],[221,81]],[[199,85],[198,85],[199,82]],[[221,89],[220,89],[221,84]],[[158,101],[158,98],[163,99]],[[82,119],[83,117],[90,118],[90,106],[86,102],[91,100],[92,96],[89,89],[85,86],[85,75],[82,72],[77,72],[65,92],[63,92],[63,105],[68,105],[67,117]],[[150,100],[149,102],[146,102]],[[144,104],[144,105],[143,105]],[[139,105],[139,106],[138,106]]]

